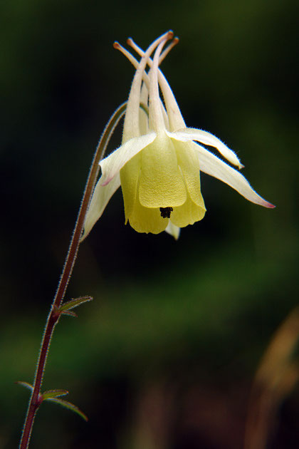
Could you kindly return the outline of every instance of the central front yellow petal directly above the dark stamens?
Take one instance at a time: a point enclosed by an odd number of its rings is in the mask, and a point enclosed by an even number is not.
[[[158,135],[142,150],[139,199],[145,207],[174,207],[187,199],[172,139]]]

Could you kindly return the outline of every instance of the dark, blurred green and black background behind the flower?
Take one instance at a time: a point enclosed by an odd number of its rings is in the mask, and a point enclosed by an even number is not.
[[[173,29],[162,70],[187,125],[236,150],[275,210],[202,175],[207,213],[137,234],[121,193],[80,248],[44,388],[90,418],[41,406],[31,448],[243,447],[258,363],[298,298],[298,1],[2,0],[0,447],[16,448],[43,325],[98,138],[143,48]],[[296,63],[297,61],[297,63]],[[111,148],[120,143],[121,127]],[[287,388],[268,448],[298,448]]]

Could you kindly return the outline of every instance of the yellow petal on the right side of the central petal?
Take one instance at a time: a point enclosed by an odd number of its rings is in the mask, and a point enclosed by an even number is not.
[[[199,159],[193,149],[193,144],[179,142],[178,140],[173,140],[173,143],[177,151],[177,162],[182,170],[190,198],[196,205],[205,210],[204,199],[200,190]]]

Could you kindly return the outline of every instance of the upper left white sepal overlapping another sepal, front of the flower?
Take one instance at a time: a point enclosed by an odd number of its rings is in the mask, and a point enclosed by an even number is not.
[[[149,133],[137,138],[127,140],[120,148],[113,151],[107,158],[100,162],[102,169],[102,185],[107,185],[122,167],[143,148],[150,145],[156,138],[156,133]]]

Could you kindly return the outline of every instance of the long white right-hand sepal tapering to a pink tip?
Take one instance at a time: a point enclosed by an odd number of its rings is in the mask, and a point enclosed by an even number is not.
[[[199,155],[199,167],[202,172],[214,176],[230,185],[240,195],[246,198],[246,200],[254,202],[256,205],[271,208],[275,207],[274,205],[271,205],[270,202],[260,197],[260,195],[253,190],[246,178],[233,167],[226,164],[226,162],[217,158],[213,153],[210,153],[208,150],[201,147],[201,145],[194,144],[194,150],[196,150]]]

